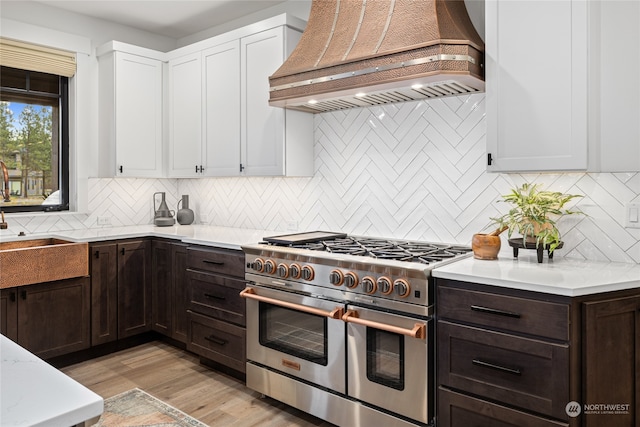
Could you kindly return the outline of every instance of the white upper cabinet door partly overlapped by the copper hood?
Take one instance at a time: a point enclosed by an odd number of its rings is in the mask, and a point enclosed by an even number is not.
[[[284,61],[284,27],[241,40],[242,165],[246,175],[284,175],[284,109],[269,106],[269,76]]]

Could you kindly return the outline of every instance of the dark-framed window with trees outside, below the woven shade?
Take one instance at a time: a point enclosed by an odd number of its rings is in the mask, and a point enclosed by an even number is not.
[[[69,207],[68,77],[0,69],[0,208]]]

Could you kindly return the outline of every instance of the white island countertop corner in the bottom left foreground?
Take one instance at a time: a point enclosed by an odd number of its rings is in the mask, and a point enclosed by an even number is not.
[[[0,425],[69,427],[102,414],[88,388],[0,335]]]

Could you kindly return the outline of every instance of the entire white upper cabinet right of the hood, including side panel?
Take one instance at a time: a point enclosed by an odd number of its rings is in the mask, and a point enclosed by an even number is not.
[[[640,170],[640,2],[486,3],[489,171]]]

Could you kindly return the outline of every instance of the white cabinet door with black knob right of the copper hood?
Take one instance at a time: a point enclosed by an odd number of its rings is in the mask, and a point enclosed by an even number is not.
[[[489,171],[586,170],[587,23],[582,0],[487,1]]]

